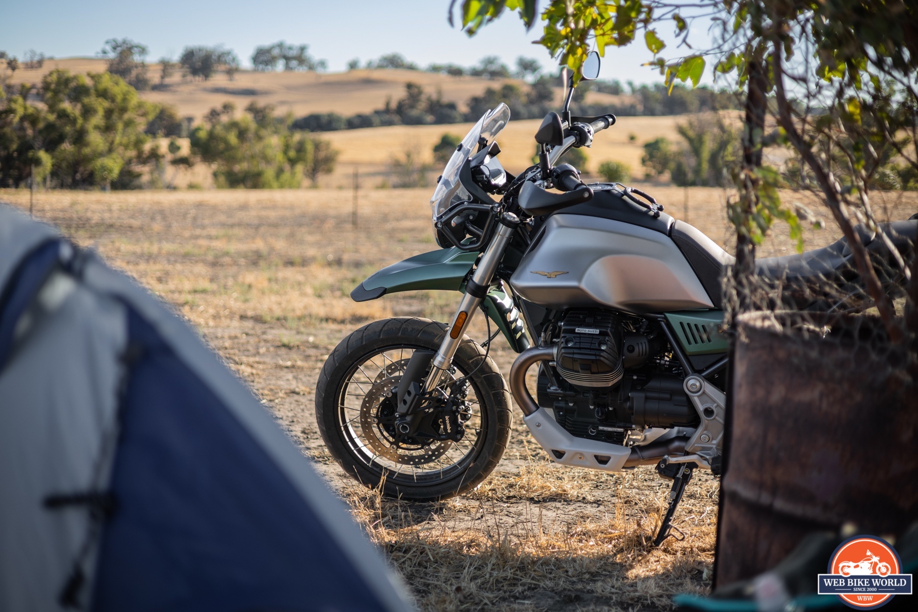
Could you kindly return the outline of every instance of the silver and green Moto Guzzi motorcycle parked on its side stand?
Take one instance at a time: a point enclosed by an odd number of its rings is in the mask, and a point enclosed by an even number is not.
[[[582,77],[598,75],[593,52]],[[382,484],[385,495],[437,500],[474,488],[498,464],[512,397],[552,461],[605,472],[655,465],[672,480],[659,543],[693,471],[722,469],[721,277],[733,258],[644,191],[584,184],[558,163],[616,123],[572,116],[573,90],[571,79],[561,114],[549,113],[535,133],[538,163],[519,175],[498,161],[510,116],[503,104],[457,146],[431,198],[441,249],[390,265],[351,294],[362,302],[459,291],[455,316],[449,324],[390,318],[342,339],[319,375],[316,416],[354,478]],[[889,226],[897,247],[910,248],[918,221]],[[863,235],[871,248],[883,243]],[[855,283],[845,248],[842,239],[758,260],[756,272],[779,279],[796,307],[837,310],[819,287],[833,274],[840,286]],[[869,305],[863,291],[847,293],[846,309]],[[481,344],[464,334],[479,309],[488,325]],[[519,353],[509,384],[488,356],[498,333]],[[532,366],[535,398],[526,386]]]

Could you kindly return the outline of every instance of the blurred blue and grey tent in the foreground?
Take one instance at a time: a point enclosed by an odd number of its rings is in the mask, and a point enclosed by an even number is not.
[[[407,610],[194,329],[0,205],[0,609]]]

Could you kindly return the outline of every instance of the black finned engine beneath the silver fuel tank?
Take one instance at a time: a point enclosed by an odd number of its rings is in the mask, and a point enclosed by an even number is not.
[[[633,430],[699,423],[662,332],[607,310],[568,311],[554,327],[553,365],[539,369],[539,405],[572,435],[624,444]]]

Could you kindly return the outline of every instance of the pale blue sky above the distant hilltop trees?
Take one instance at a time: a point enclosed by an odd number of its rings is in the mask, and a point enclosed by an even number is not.
[[[4,0],[0,50],[19,57],[29,49],[58,58],[92,56],[106,39],[127,37],[149,47],[148,61],[174,58],[186,45],[222,44],[247,66],[255,46],[284,39],[308,44],[312,55],[329,61],[331,71],[344,70],[353,58],[366,61],[393,51],[421,66],[470,65],[486,55],[498,55],[510,66],[520,55],[553,64],[546,50],[532,44],[539,26],[527,33],[519,17],[508,14],[469,39],[450,28],[448,6],[449,0]],[[658,72],[641,65],[651,57],[642,40],[607,50],[600,78],[659,82]]]

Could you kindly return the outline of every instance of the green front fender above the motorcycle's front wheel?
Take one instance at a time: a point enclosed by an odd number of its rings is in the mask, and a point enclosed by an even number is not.
[[[383,268],[354,287],[351,298],[355,302],[375,300],[386,294],[400,291],[441,289],[464,291],[465,276],[478,258],[477,252],[452,249],[431,250]],[[491,289],[485,298],[487,316],[493,320],[510,348],[521,352],[530,342],[522,325],[520,311],[513,300],[500,289]]]

